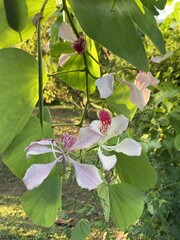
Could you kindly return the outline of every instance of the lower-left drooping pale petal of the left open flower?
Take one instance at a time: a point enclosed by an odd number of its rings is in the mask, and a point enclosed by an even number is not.
[[[49,175],[57,161],[53,161],[47,164],[33,164],[23,178],[24,184],[28,190],[38,187],[45,178]]]

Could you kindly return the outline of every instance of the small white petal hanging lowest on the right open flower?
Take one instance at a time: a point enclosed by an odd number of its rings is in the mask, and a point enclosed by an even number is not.
[[[117,158],[115,155],[111,155],[111,156],[105,156],[101,149],[99,148],[98,149],[98,156],[99,156],[99,159],[103,165],[103,168],[107,171],[109,171],[110,169],[112,169],[115,164],[116,164],[116,161],[117,161]]]

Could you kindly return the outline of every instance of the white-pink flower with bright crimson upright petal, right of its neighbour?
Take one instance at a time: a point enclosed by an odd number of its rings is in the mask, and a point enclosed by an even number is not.
[[[98,156],[105,170],[110,170],[116,164],[116,155],[104,155],[104,152],[115,151],[122,152],[128,156],[140,156],[141,145],[131,138],[125,138],[117,142],[115,146],[109,146],[107,141],[123,133],[128,126],[128,119],[124,115],[111,117],[106,110],[98,112],[99,120],[93,121],[89,127],[81,128],[77,141],[71,147],[74,149],[83,149],[98,144]]]

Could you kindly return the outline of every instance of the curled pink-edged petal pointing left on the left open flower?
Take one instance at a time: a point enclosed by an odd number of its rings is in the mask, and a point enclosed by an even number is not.
[[[26,158],[30,155],[40,155],[50,152],[59,152],[58,150],[52,148],[52,146],[57,146],[57,141],[53,139],[42,139],[37,142],[32,142],[26,149]],[[49,147],[48,147],[49,145]]]

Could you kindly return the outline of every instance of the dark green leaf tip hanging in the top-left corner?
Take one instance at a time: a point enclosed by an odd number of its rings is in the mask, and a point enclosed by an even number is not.
[[[4,0],[4,8],[9,26],[21,33],[28,20],[26,0]]]

